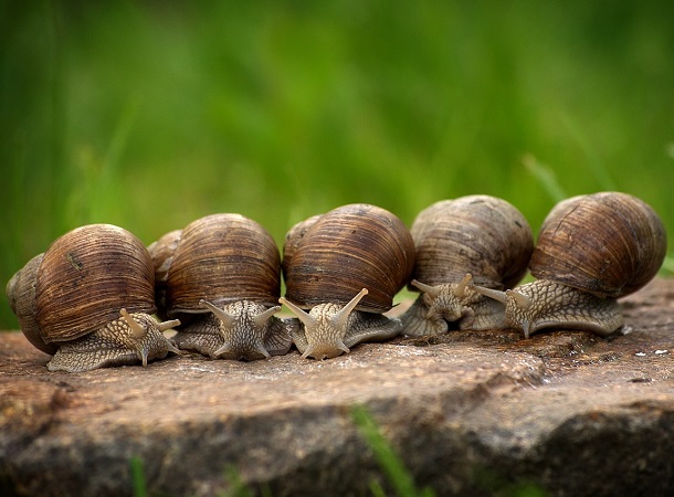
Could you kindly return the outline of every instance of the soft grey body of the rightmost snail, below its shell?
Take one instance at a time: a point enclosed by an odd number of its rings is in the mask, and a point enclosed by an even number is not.
[[[485,295],[505,300],[506,325],[522,329],[526,338],[544,328],[582,329],[607,336],[623,324],[614,298],[597,297],[548,279],[507,292],[488,290]]]

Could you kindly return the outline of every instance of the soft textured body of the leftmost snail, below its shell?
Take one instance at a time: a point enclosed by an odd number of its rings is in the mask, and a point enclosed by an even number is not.
[[[108,366],[147,366],[149,360],[164,359],[168,352],[181,353],[164,331],[180,321],[158,322],[143,313],[128,314],[76,340],[60,343],[46,364],[50,371],[82,372]]]

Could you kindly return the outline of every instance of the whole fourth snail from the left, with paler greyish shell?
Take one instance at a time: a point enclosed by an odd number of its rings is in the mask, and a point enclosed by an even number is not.
[[[403,332],[438,335],[449,322],[459,329],[502,327],[504,306],[472,284],[503,289],[524,277],[534,250],[524,215],[505,200],[467,195],[424,209],[410,231],[417,247],[410,286],[421,295],[401,317]]]

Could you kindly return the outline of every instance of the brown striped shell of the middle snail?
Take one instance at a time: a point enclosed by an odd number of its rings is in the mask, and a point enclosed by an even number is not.
[[[356,309],[392,307],[414,264],[414,242],[400,219],[375,205],[349,204],[297,231],[304,233],[298,242],[286,240],[292,257],[284,254],[287,300],[302,308],[345,305],[367,288]]]

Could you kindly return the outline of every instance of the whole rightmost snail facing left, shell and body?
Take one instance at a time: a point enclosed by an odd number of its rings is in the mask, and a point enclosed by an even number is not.
[[[665,252],[665,228],[644,201],[620,192],[578,195],[544,220],[529,264],[537,281],[475,289],[504,303],[506,326],[526,338],[545,328],[608,336],[623,325],[617,299],[649,283]]]

